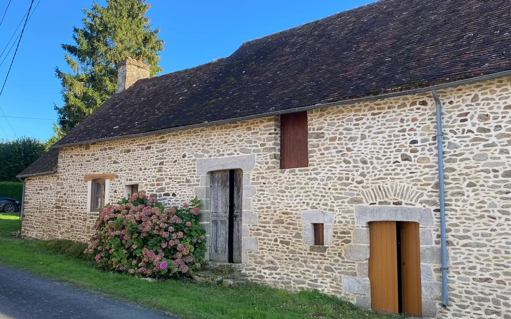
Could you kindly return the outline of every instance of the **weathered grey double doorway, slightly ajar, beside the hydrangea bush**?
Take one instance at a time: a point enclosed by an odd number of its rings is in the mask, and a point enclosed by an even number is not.
[[[240,169],[211,173],[210,260],[241,263],[242,186]]]

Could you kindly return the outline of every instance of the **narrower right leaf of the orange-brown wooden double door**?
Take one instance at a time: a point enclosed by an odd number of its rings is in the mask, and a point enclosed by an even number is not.
[[[403,312],[422,317],[419,223],[401,223],[401,301]]]

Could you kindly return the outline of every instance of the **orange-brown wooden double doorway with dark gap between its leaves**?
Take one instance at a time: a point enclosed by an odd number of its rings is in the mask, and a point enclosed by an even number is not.
[[[369,223],[371,308],[422,316],[419,224]]]

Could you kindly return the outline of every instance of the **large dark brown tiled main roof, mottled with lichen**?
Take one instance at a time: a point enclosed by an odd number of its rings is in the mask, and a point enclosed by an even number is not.
[[[289,110],[511,69],[509,0],[382,0],[140,80],[56,146]]]

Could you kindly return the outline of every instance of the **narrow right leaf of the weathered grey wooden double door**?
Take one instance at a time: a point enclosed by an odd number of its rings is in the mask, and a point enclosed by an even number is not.
[[[243,171],[233,170],[233,262],[241,263],[241,212],[243,201]]]

